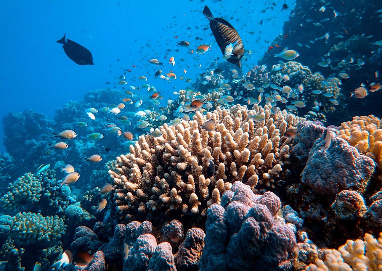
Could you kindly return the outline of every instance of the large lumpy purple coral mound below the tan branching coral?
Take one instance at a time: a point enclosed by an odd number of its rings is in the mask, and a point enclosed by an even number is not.
[[[254,195],[242,182],[235,182],[232,191],[234,194],[226,209],[213,204],[207,210],[207,233],[199,269],[291,268],[296,237],[290,227],[274,218],[280,210],[280,199],[272,192]],[[229,199],[232,192],[227,193]]]

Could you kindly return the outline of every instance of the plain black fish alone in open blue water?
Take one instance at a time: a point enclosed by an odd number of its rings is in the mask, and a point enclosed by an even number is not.
[[[94,65],[92,53],[73,40],[65,40],[65,35],[57,42],[63,44],[62,48],[64,48],[66,55],[78,65]]]

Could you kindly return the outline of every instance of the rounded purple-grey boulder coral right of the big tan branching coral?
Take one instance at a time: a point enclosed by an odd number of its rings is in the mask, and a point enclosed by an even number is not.
[[[329,149],[322,151],[319,147],[323,144],[321,138],[314,142],[301,181],[322,195],[333,196],[349,188],[363,192],[374,171],[374,161],[333,133]]]

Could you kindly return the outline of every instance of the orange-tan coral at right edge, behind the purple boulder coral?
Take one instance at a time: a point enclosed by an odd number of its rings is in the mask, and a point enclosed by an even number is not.
[[[378,164],[378,179],[382,181],[382,121],[373,115],[355,116],[341,123],[338,137],[345,139],[360,153],[373,158]]]

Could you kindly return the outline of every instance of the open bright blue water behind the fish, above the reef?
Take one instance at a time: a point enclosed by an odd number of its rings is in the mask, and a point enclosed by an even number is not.
[[[275,3],[276,6],[272,5]],[[0,16],[0,90],[2,93],[0,119],[8,111],[32,109],[53,118],[55,110],[70,100],[81,101],[89,90],[113,87],[122,69],[131,69],[128,76],[145,75],[149,83],[168,97],[173,85],[165,81],[152,81],[157,67],[147,66],[145,60],[158,58],[163,63],[166,49],[175,50],[176,41],[189,40],[191,47],[214,41],[207,19],[197,10],[208,5],[214,16],[222,16],[236,27],[244,47],[253,51],[246,65],[256,65],[257,59],[278,34],[282,34],[294,2],[286,1],[289,9],[281,10],[284,1],[262,3],[232,1],[2,1]],[[261,13],[267,7],[274,6]],[[230,19],[230,17],[233,19]],[[260,21],[263,21],[262,26]],[[196,29],[199,26],[199,29]],[[191,30],[187,30],[191,27]],[[207,27],[207,30],[202,30]],[[249,32],[253,31],[254,34]],[[261,33],[259,32],[261,31]],[[79,66],[64,53],[56,40],[66,37],[88,48],[94,66]],[[175,33],[175,34],[174,34]],[[190,35],[192,37],[190,37]],[[178,39],[174,37],[178,36]],[[200,44],[194,37],[201,37]],[[221,56],[217,44],[204,55],[187,54],[190,48],[179,48],[177,63],[185,58],[183,68],[191,78],[211,61]],[[120,61],[117,62],[117,59]],[[222,61],[222,60],[220,60]],[[199,70],[194,67],[201,63]],[[136,65],[137,68],[133,68]],[[121,69],[122,68],[122,69]],[[166,66],[166,72],[171,66]],[[165,71],[165,70],[163,70]],[[129,81],[128,85],[137,85]],[[111,82],[106,85],[105,82]],[[178,86],[179,87],[179,86]],[[3,124],[0,124],[0,142],[3,142]],[[5,151],[0,144],[0,151]]]

